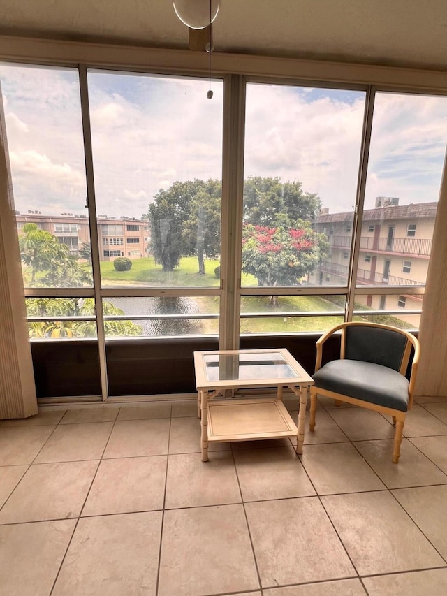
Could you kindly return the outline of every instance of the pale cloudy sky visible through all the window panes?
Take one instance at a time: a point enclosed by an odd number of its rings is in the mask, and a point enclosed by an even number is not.
[[[0,65],[15,206],[85,215],[78,73]],[[89,71],[96,212],[140,217],[177,180],[221,179],[223,83]],[[356,198],[364,92],[247,85],[244,176],[302,182],[330,212]],[[365,206],[437,201],[447,97],[376,94]]]

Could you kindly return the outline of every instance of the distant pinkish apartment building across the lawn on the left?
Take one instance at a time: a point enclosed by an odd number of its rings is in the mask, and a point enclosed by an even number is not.
[[[17,231],[20,234],[24,224],[33,223],[55,235],[71,254],[79,254],[83,244],[90,243],[89,219],[86,215],[62,213],[59,216],[45,215],[29,210],[27,215],[16,213]],[[98,241],[100,261],[113,261],[117,256],[141,259],[149,256],[150,232],[147,221],[134,217],[98,216]]]

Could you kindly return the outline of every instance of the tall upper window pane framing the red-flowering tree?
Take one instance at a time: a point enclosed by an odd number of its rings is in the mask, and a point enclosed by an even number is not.
[[[247,85],[242,286],[346,286],[364,108],[364,92]]]

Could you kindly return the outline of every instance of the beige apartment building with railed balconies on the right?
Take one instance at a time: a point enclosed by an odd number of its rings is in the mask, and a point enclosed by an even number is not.
[[[399,202],[398,197],[379,196],[375,208],[363,212],[357,284],[372,286],[372,293],[358,296],[356,301],[372,310],[418,310],[422,302],[423,296],[407,291],[397,296],[374,294],[374,286],[424,286],[427,279],[437,203]],[[321,210],[315,227],[326,235],[329,252],[309,281],[346,285],[352,226],[353,212]],[[414,320],[416,323],[416,317]]]

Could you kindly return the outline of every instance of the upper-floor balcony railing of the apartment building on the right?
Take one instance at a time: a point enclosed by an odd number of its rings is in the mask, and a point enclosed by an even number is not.
[[[350,248],[351,236],[329,235],[328,242],[334,248]],[[360,238],[360,250],[376,252],[396,252],[399,254],[430,256],[431,238]]]

